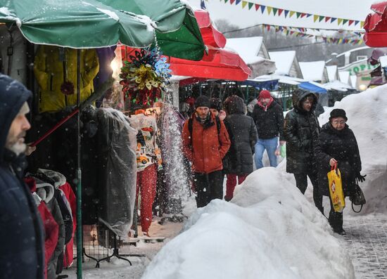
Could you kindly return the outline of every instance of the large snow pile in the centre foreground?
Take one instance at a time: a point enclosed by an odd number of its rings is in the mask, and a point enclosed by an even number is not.
[[[354,278],[324,216],[285,175],[259,169],[232,202],[198,209],[142,278]]]

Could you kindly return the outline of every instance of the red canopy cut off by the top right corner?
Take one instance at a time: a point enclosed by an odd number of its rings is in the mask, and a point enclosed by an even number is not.
[[[364,42],[367,46],[387,46],[387,1],[371,6],[372,11],[364,21]]]

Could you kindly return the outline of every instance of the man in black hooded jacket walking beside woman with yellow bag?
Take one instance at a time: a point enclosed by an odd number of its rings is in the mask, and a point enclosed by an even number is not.
[[[317,186],[317,166],[314,148],[319,137],[319,122],[315,115],[317,96],[310,91],[298,89],[293,92],[293,110],[288,112],[284,123],[286,139],[286,171],[294,174],[296,186],[301,193],[307,188],[307,176],[312,181],[313,200],[324,213],[322,195]]]

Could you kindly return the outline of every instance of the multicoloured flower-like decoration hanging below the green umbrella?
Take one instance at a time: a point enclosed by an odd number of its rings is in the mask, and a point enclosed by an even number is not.
[[[125,98],[132,104],[149,108],[163,98],[165,86],[171,77],[170,64],[158,48],[141,48],[124,61],[120,72],[120,84]]]

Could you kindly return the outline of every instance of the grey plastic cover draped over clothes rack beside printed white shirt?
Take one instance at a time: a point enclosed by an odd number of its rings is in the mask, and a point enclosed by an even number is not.
[[[127,238],[136,199],[137,130],[118,110],[99,108],[99,221],[116,235]]]

